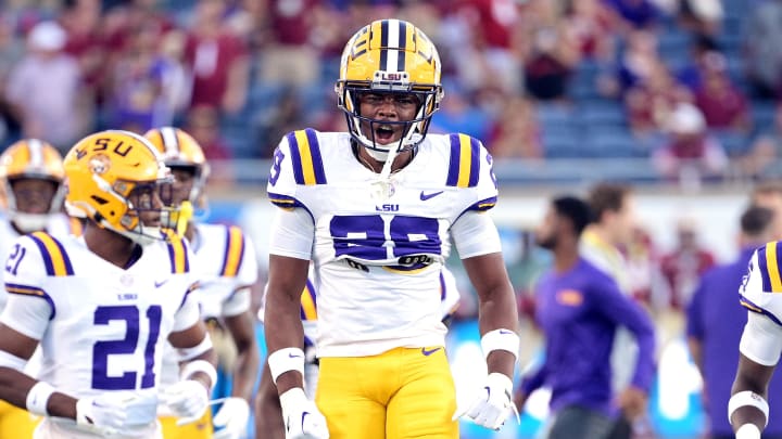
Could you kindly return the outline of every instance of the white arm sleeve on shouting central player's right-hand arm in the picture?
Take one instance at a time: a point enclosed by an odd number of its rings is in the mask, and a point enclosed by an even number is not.
[[[496,225],[484,212],[464,212],[451,225],[451,236],[462,259],[502,251]]]

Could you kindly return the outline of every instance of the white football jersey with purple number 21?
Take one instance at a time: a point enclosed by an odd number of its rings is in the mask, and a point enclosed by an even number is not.
[[[5,264],[10,297],[0,321],[40,340],[39,379],[60,391],[156,398],[164,343],[199,319],[188,298],[191,260],[181,240],[148,245],[123,269],[90,251],[81,237],[25,235]],[[46,418],[41,428],[91,437],[72,419]],[[125,437],[149,438],[156,429],[147,424]]]

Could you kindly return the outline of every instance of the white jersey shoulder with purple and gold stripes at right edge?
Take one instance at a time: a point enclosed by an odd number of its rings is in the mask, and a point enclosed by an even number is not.
[[[782,326],[782,241],[766,244],[755,250],[749,260],[739,294],[741,305],[765,314]]]

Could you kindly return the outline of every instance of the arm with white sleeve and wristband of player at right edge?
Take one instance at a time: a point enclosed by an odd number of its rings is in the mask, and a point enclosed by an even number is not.
[[[737,439],[757,439],[768,424],[768,384],[782,352],[782,326],[749,311],[739,350],[728,417]]]

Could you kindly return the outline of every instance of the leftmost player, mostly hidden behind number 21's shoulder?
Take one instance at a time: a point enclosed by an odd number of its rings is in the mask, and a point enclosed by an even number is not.
[[[68,217],[62,214],[65,196],[62,156],[51,144],[23,139],[0,155],[0,193],[7,211],[0,215],[0,257],[4,261],[14,242],[26,233],[70,233]],[[3,279],[0,272],[0,280]],[[0,311],[8,293],[0,290]],[[35,374],[31,365],[27,372]],[[36,421],[27,411],[0,401],[0,438],[29,438]]]

